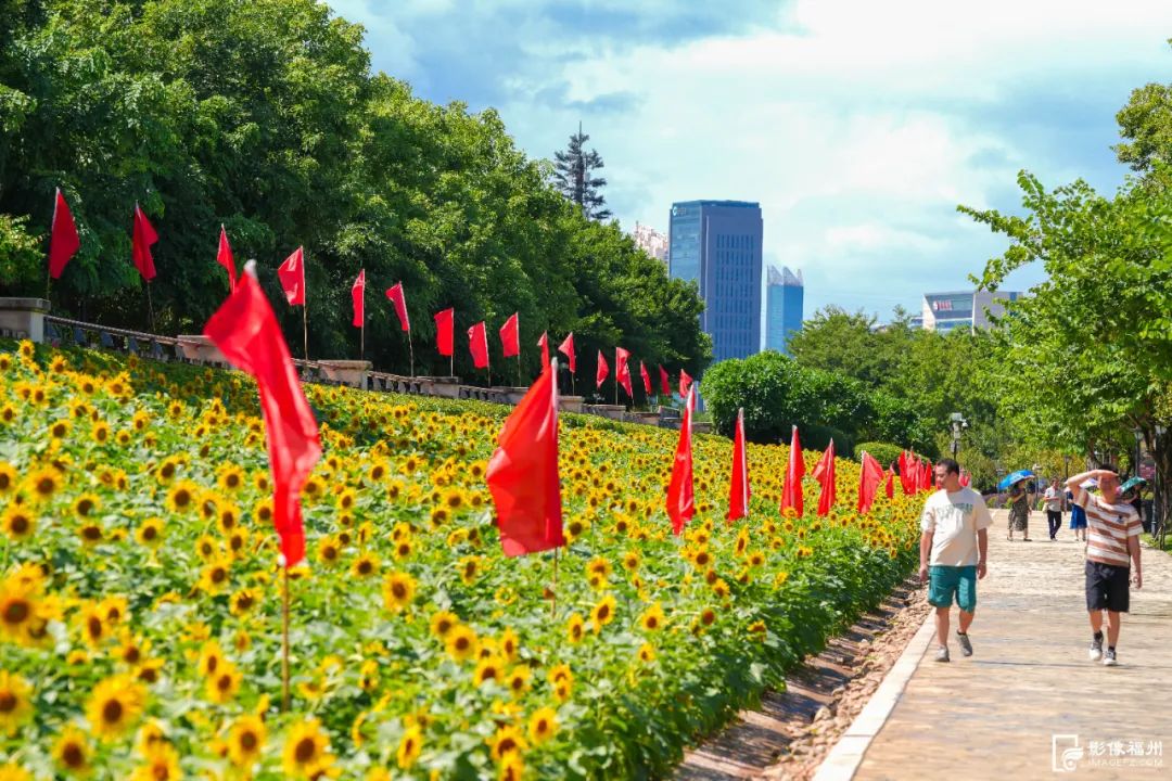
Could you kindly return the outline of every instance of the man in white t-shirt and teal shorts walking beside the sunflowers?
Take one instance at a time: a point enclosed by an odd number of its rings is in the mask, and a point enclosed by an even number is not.
[[[928,604],[936,609],[936,662],[948,662],[948,614],[960,608],[956,642],[973,656],[968,628],[976,610],[976,581],[984,577],[993,525],[984,499],[960,484],[960,465],[950,458],[935,467],[941,489],[928,498],[920,519],[920,580],[928,581]]]

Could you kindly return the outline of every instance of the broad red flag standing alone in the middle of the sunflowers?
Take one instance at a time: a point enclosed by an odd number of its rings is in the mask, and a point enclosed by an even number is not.
[[[505,420],[486,480],[497,508],[500,547],[519,556],[566,544],[558,481],[558,384],[546,363]]]

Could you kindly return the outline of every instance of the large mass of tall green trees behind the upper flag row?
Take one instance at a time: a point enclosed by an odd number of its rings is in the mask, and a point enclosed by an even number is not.
[[[139,201],[161,237],[151,296],[164,333],[198,333],[223,301],[223,224],[295,344],[301,311],[284,304],[275,267],[305,246],[313,356],[357,357],[349,289],[364,268],[366,356],[380,369],[408,366],[382,294],[396,281],[421,374],[448,374],[431,316],[449,306],[458,333],[518,311],[523,377],[547,329],[575,331],[581,355],[621,343],[693,374],[710,358],[694,286],[584,217],[496,111],[434,105],[372,74],[362,28],[325,4],[0,0],[0,214],[43,240],[64,191],[82,246],[53,286],[59,313],[144,327],[129,235]],[[0,293],[43,293],[39,265],[40,278],[5,274]],[[496,379],[516,382],[489,342]],[[456,371],[477,376],[465,350]]]

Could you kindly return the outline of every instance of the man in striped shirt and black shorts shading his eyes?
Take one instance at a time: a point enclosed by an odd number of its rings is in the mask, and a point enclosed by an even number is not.
[[[1099,494],[1083,487],[1088,479],[1098,480]],[[1119,640],[1119,614],[1127,612],[1129,587],[1143,588],[1139,561],[1139,533],[1143,527],[1136,508],[1119,495],[1119,475],[1115,470],[1091,470],[1067,481],[1075,503],[1086,511],[1086,610],[1091,618],[1092,662],[1117,664],[1115,645]],[[1134,577],[1129,557],[1136,564]],[[1106,655],[1103,653],[1103,611],[1106,611]]]

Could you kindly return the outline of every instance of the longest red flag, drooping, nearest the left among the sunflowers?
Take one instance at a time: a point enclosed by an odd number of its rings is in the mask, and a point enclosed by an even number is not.
[[[293,567],[305,556],[301,486],[321,457],[321,443],[288,344],[251,266],[204,326],[204,336],[257,379],[273,477],[273,526],[285,566]]]

